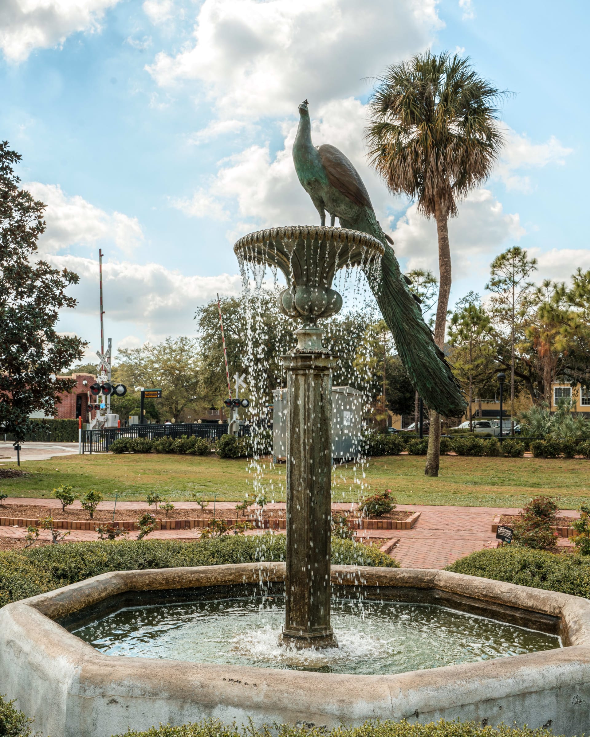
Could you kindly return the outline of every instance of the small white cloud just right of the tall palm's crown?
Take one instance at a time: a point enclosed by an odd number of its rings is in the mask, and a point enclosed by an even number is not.
[[[549,164],[563,166],[566,156],[573,151],[564,147],[555,136],[550,136],[544,143],[535,144],[526,133],[516,133],[512,128],[507,128],[505,135],[506,145],[494,176],[501,179],[507,189],[531,192],[530,177],[517,172],[523,169],[542,169]]]

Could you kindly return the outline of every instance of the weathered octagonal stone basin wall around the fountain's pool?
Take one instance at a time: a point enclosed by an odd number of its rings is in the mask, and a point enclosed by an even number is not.
[[[440,604],[560,635],[563,648],[386,676],[187,663],[97,652],[66,629],[117,598],[284,581],[281,563],[105,573],[0,609],[0,693],[52,737],[110,737],[128,727],[204,718],[336,727],[367,719],[590,724],[590,601],[440,570],[333,566],[339,595]],[[120,601],[119,601],[120,605]],[[62,623],[65,626],[62,626]]]

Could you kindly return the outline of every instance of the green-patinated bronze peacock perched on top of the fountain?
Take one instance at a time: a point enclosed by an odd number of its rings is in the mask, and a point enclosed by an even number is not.
[[[330,226],[338,217],[341,227],[368,233],[383,242],[381,282],[375,284],[369,279],[369,284],[383,320],[392,331],[400,359],[429,408],[444,416],[462,414],[465,408],[462,391],[414,301],[390,245],[392,240],[383,233],[375,217],[361,177],[336,147],[313,145],[307,100],[299,105],[299,116],[293,144],[295,170],[319,212],[321,225],[325,225],[328,212]]]

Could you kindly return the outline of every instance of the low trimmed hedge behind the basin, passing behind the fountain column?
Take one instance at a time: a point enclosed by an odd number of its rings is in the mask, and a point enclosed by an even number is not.
[[[0,553],[0,606],[111,570],[142,570],[285,560],[285,535],[227,535],[196,542],[67,542]],[[332,538],[333,565],[399,567],[368,545]],[[0,733],[1,734],[1,733]]]

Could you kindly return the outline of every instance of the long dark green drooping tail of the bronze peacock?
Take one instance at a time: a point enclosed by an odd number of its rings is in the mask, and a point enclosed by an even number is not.
[[[434,343],[431,329],[424,322],[420,307],[403,279],[398,259],[386,240],[375,212],[367,207],[354,223],[339,218],[343,228],[368,233],[383,242],[382,279],[368,279],[383,320],[392,331],[395,347],[406,367],[412,385],[428,408],[446,417],[460,416],[465,399],[445,354]]]

